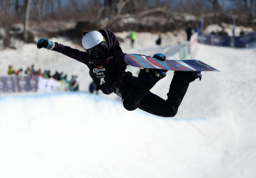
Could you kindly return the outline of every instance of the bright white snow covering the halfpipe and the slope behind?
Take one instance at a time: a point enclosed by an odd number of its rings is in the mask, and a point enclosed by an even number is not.
[[[52,40],[82,50],[68,39]],[[152,55],[168,48],[138,42],[128,49],[125,43],[125,53]],[[220,72],[202,72],[174,118],[126,111],[114,94],[1,96],[0,177],[254,178],[256,48],[199,44],[194,57]],[[9,64],[32,63],[77,74],[88,90],[85,65],[35,44],[1,51],[0,75]],[[172,75],[169,71],[151,91],[166,99]]]

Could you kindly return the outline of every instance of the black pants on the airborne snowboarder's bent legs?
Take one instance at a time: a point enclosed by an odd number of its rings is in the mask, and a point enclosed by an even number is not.
[[[167,100],[149,91],[160,79],[157,76],[148,76],[145,70],[141,70],[138,78],[135,76],[124,78],[120,87],[124,108],[129,111],[140,108],[154,115],[174,117],[189,83],[195,78],[189,72],[176,72],[170,84]]]

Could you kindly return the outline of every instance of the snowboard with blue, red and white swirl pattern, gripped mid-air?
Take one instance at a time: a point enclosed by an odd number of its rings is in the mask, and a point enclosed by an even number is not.
[[[153,57],[136,54],[126,54],[124,61],[131,66],[139,68],[157,68],[177,71],[218,71],[206,63],[198,60],[165,60],[160,61]]]

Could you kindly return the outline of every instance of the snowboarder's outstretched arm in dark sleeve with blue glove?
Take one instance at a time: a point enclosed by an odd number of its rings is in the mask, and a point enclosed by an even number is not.
[[[83,51],[79,51],[78,49],[73,49],[69,46],[65,46],[62,44],[59,44],[57,42],[52,42],[49,39],[42,38],[37,43],[38,49],[45,48],[48,50],[57,51],[59,53],[62,53],[68,57],[71,57],[73,59],[76,59],[77,61],[80,61],[81,63],[87,64],[88,63],[88,54]]]

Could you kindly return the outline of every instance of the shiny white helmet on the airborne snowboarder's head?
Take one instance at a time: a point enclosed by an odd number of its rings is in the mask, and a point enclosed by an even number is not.
[[[82,39],[84,49],[90,49],[104,41],[104,37],[98,31],[90,31],[86,33]]]

